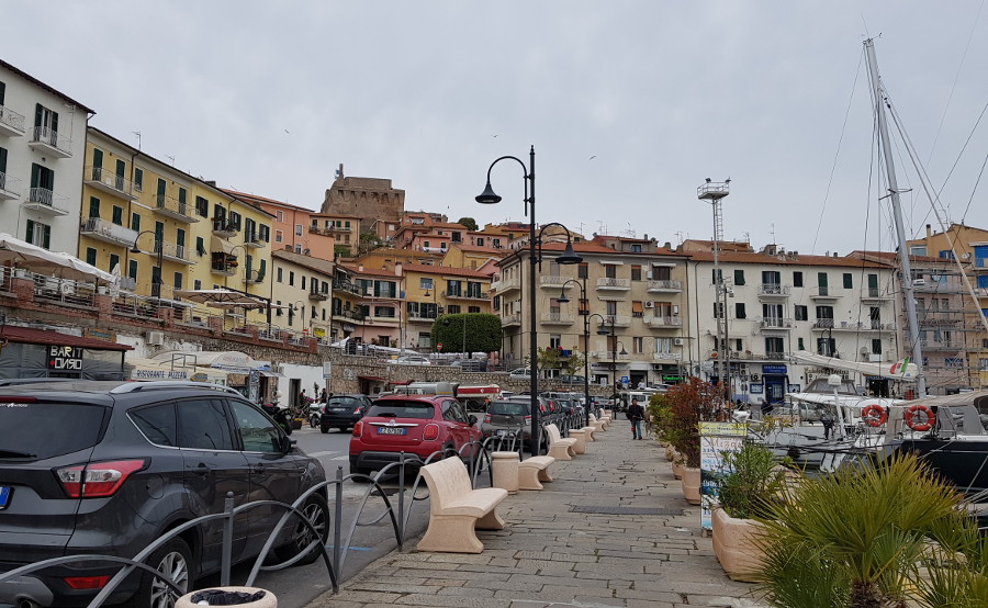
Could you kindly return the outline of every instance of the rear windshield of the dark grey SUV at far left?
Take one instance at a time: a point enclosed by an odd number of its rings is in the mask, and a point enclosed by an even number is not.
[[[105,413],[99,405],[10,403],[0,396],[0,458],[45,459],[91,448]]]

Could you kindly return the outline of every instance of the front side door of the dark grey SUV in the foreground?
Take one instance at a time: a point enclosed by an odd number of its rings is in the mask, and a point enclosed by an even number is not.
[[[277,500],[292,504],[302,493],[306,460],[294,450],[282,451],[283,435],[255,406],[236,399],[227,402],[236,424],[236,432],[250,471],[249,502]],[[249,538],[245,555],[260,552],[278,520],[287,511],[276,505],[261,505],[248,513]],[[282,528],[291,529],[292,521]],[[283,536],[283,534],[282,534]]]

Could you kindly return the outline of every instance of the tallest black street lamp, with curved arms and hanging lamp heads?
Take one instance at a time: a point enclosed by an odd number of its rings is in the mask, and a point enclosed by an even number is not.
[[[474,198],[478,203],[492,205],[501,202],[501,196],[494,193],[494,189],[491,188],[491,170],[495,165],[501,162],[502,160],[514,160],[518,165],[521,166],[523,172],[523,181],[525,184],[525,198],[523,201],[525,202],[525,211],[528,215],[528,261],[529,261],[529,275],[528,275],[528,292],[529,292],[529,319],[531,325],[531,333],[529,335],[529,348],[528,348],[528,358],[529,358],[529,392],[531,393],[530,407],[531,407],[531,455],[538,455],[539,453],[539,431],[541,430],[541,426],[539,424],[539,342],[538,342],[538,312],[536,309],[536,297],[538,295],[536,285],[536,264],[537,260],[537,244],[536,244],[536,219],[535,219],[535,146],[528,151],[528,167],[525,166],[525,162],[515,156],[502,156],[494,160],[490,167],[487,167],[487,182],[484,185],[484,191]],[[566,237],[569,240],[569,230],[566,230]],[[563,255],[563,259],[557,260],[559,263],[577,263],[581,261],[573,254],[572,245],[568,248],[566,254],[571,254],[571,257],[566,258],[565,254]]]

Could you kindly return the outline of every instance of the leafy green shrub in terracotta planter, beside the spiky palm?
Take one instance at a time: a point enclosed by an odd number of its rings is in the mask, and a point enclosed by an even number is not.
[[[714,508],[714,553],[734,581],[756,581],[763,560],[760,518],[771,517],[772,506],[784,499],[787,471],[772,451],[744,441],[737,452],[723,452],[725,473],[716,477],[718,504]]]

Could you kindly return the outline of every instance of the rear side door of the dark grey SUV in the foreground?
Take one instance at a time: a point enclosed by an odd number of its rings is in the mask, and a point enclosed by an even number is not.
[[[182,452],[182,481],[190,508],[197,516],[223,513],[226,495],[234,506],[249,500],[250,474],[247,459],[234,443],[234,426],[223,399],[189,398],[177,403],[178,440]],[[233,561],[242,559],[249,530],[249,515],[234,520]],[[223,521],[202,526],[202,565],[215,570],[223,543]]]

